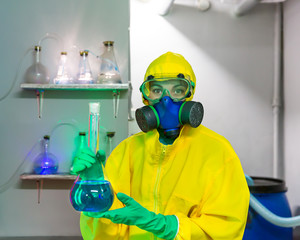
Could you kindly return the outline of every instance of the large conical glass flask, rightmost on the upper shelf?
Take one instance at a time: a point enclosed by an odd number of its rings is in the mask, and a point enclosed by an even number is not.
[[[103,42],[105,49],[100,56],[100,72],[97,83],[116,84],[122,83],[120,71],[114,54],[114,41]]]

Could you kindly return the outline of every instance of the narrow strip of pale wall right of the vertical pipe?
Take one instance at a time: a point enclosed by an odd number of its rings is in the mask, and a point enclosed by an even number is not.
[[[300,215],[300,1],[287,1],[284,5],[284,150],[288,198],[293,212]],[[300,229],[298,228],[300,238]]]

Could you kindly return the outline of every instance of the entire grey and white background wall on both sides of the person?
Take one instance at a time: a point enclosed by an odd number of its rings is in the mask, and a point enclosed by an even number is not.
[[[272,175],[273,93],[273,4],[259,4],[241,18],[231,17],[231,6],[212,6],[202,13],[194,1],[175,1],[166,17],[157,15],[159,0],[131,0],[131,79],[133,107],[142,106],[138,87],[149,63],[166,51],[184,55],[197,76],[195,100],[205,107],[203,124],[225,136],[239,155],[249,175]],[[116,41],[116,55],[122,77],[128,79],[127,1],[1,1],[1,88],[5,94],[21,62],[17,83],[0,101],[0,183],[6,182],[29,150],[52,132],[51,149],[67,171],[77,131],[87,131],[88,102],[101,102],[102,148],[106,131],[116,131],[114,146],[127,136],[127,93],[121,95],[119,118],[112,117],[110,92],[46,91],[43,118],[37,119],[33,91],[19,85],[30,66],[28,48],[47,32],[59,34],[70,53],[72,45],[101,52],[101,42]],[[299,206],[297,131],[299,124],[299,1],[285,3],[285,171],[288,197],[293,211]],[[52,76],[60,52],[59,42],[46,39],[42,60]],[[24,56],[25,55],[25,56]],[[73,58],[76,62],[75,57]],[[93,70],[97,61],[92,60]],[[61,123],[69,125],[59,125]],[[72,125],[72,126],[70,126]],[[56,126],[59,126],[55,128]],[[130,123],[130,133],[139,131]],[[37,147],[28,159],[37,153]],[[20,171],[30,171],[31,161]],[[35,183],[14,182],[0,194],[0,236],[79,235],[79,215],[68,200],[71,182],[45,182],[37,204]]]

